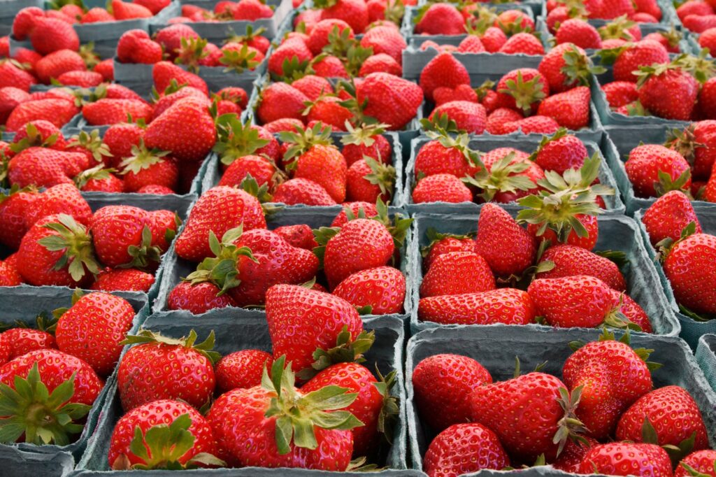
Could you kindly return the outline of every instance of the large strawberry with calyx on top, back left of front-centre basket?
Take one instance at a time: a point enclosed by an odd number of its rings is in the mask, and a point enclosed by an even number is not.
[[[195,344],[196,333],[173,339],[142,330],[122,344],[136,344],[117,368],[117,387],[125,411],[159,399],[180,399],[200,408],[211,400],[216,385],[211,351],[214,334]]]

